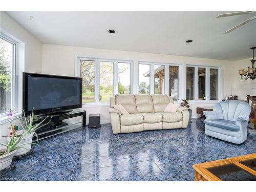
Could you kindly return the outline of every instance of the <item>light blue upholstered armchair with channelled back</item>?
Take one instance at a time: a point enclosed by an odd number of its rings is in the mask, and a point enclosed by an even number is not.
[[[205,134],[231,143],[246,141],[250,105],[244,101],[221,101],[214,111],[204,111]]]

